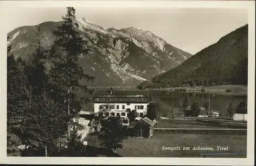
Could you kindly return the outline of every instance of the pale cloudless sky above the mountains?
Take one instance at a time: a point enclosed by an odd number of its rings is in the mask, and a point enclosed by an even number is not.
[[[75,8],[77,19],[86,17],[100,26],[115,29],[138,27],[151,31],[191,54],[216,43],[248,23],[244,9],[228,8]],[[66,8],[11,8],[6,10],[8,32],[24,25],[60,21]]]

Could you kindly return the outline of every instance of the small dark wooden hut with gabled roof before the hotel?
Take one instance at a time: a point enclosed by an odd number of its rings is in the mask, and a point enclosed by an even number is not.
[[[155,122],[145,117],[131,125],[130,128],[132,128],[133,136],[150,138],[154,133],[154,124]]]

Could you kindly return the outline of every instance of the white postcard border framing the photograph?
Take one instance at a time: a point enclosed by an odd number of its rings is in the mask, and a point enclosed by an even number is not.
[[[8,8],[46,7],[131,7],[131,8],[232,8],[248,10],[248,128],[247,158],[167,158],[167,157],[7,157],[6,52]],[[12,164],[155,164],[155,165],[253,165],[254,164],[254,81],[255,81],[255,2],[254,1],[1,1],[1,157],[0,163]],[[28,18],[29,19],[29,18]]]

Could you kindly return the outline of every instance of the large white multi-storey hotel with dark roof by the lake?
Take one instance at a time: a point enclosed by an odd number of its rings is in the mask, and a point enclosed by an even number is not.
[[[150,91],[105,90],[96,91],[94,94],[95,116],[120,116],[127,119],[127,114],[136,110],[136,120],[146,115],[147,105],[151,102]]]

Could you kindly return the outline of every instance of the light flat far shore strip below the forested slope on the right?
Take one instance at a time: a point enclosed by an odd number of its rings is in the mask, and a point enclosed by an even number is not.
[[[247,90],[248,90],[247,86],[243,86],[243,85],[222,85],[222,86],[210,86],[210,87],[197,86],[195,88],[175,87],[175,88],[158,88],[153,90],[175,91],[179,89],[185,89],[186,92],[198,92],[198,93],[202,93],[201,90],[205,89],[205,92],[207,93],[222,94],[222,95],[247,95]],[[232,90],[232,92],[226,92],[227,89]]]

